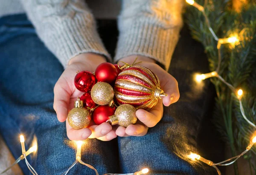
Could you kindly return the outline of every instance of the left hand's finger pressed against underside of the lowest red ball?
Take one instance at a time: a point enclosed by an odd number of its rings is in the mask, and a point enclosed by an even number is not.
[[[100,125],[90,126],[89,128],[92,131],[92,134],[90,135],[89,138],[99,138],[108,134],[108,132],[111,131],[112,126],[104,122],[104,123],[101,123]]]

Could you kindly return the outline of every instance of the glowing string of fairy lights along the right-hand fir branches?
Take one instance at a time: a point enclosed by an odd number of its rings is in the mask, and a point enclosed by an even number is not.
[[[213,71],[213,72],[209,72],[209,73],[206,73],[206,74],[201,74],[201,75],[197,75],[196,76],[196,80],[198,82],[201,82],[201,80],[204,80],[204,79],[207,79],[207,78],[210,78],[210,77],[217,77],[219,80],[221,80],[224,84],[226,84],[232,91],[233,93],[237,94],[237,99],[239,100],[239,106],[240,106],[240,111],[241,111],[241,114],[244,118],[244,120],[247,121],[247,123],[249,123],[251,126],[253,126],[255,129],[256,129],[256,125],[254,123],[252,123],[250,120],[248,120],[248,118],[246,117],[245,115],[245,112],[244,112],[244,108],[243,108],[243,105],[242,105],[242,102],[241,102],[241,98],[242,98],[242,95],[243,95],[243,91],[242,89],[239,89],[238,91],[236,90],[236,88],[234,86],[232,86],[230,83],[228,83],[226,80],[224,80],[223,77],[221,77],[221,75],[218,74],[219,70],[220,70],[220,67],[221,67],[221,46],[222,44],[226,44],[226,43],[230,43],[230,44],[235,44],[236,42],[239,41],[239,39],[237,37],[228,37],[228,38],[218,38],[215,34],[215,32],[212,30],[210,24],[209,24],[209,19],[207,17],[207,15],[205,14],[205,11],[204,11],[204,7],[199,5],[198,3],[196,3],[194,0],[186,0],[186,2],[192,6],[194,6],[196,9],[198,9],[199,11],[202,12],[202,14],[204,15],[205,17],[205,21],[206,21],[206,25],[209,29],[209,31],[211,32],[212,36],[214,37],[214,39],[216,41],[218,41],[217,43],[217,49],[218,49],[218,66],[217,66],[217,69],[216,71]],[[209,166],[212,166],[213,168],[216,169],[216,171],[218,172],[218,175],[221,175],[221,172],[220,170],[217,168],[217,166],[228,166],[228,165],[231,165],[233,164],[234,162],[236,162],[242,155],[244,155],[245,153],[247,153],[251,147],[253,146],[253,144],[256,143],[256,132],[254,132],[253,134],[253,138],[251,139],[249,145],[247,146],[246,150],[244,152],[242,152],[240,155],[237,155],[233,158],[229,158],[225,161],[222,161],[222,162],[219,162],[219,163],[213,163],[212,161],[209,161],[203,157],[201,157],[200,155],[198,154],[195,154],[195,153],[190,153],[189,155],[189,158],[191,158],[193,161],[195,160],[199,160],[201,162],[204,162],[205,164],[208,164]],[[227,163],[228,162],[228,163]],[[224,164],[225,163],[225,164]]]

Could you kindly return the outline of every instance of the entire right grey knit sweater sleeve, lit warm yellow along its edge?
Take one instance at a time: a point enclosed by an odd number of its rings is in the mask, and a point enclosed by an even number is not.
[[[183,0],[123,0],[115,61],[151,57],[169,69],[182,27]]]

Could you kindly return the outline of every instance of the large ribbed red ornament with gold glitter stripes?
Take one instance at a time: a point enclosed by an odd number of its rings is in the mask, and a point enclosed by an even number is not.
[[[119,105],[131,104],[136,109],[145,110],[150,110],[166,96],[160,89],[157,75],[143,66],[124,69],[116,78],[114,91]]]

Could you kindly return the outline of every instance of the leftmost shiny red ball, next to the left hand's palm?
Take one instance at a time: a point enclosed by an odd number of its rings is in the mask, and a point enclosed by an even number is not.
[[[96,83],[95,76],[89,71],[81,71],[76,74],[74,79],[76,89],[81,92],[90,92],[93,85]]]

